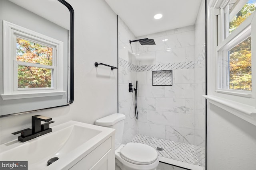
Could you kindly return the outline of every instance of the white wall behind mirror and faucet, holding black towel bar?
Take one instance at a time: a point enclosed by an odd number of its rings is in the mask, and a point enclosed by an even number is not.
[[[31,128],[32,115],[52,117],[54,125],[76,120],[95,120],[117,112],[117,16],[104,0],[67,0],[74,8],[74,103],[0,119],[1,143],[17,139],[14,131]],[[53,124],[51,124],[53,125]]]

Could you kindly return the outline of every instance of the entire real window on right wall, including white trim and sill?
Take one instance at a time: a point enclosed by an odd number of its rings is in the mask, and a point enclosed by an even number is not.
[[[208,95],[204,96],[208,99],[208,104],[224,109],[253,125],[256,125],[255,2],[256,0],[209,0]],[[243,12],[248,6],[250,10]],[[225,114],[221,110],[218,112],[220,115]]]

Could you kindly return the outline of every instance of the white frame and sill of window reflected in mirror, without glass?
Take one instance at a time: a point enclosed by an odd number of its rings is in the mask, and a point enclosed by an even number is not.
[[[54,48],[52,66],[16,61],[16,37]],[[63,95],[64,43],[46,35],[3,21],[3,100]],[[52,88],[18,88],[18,64],[53,69]],[[17,85],[17,86],[16,86]]]

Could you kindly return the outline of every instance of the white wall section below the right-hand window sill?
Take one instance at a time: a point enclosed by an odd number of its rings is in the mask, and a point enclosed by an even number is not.
[[[256,126],[207,105],[207,170],[255,170]]]

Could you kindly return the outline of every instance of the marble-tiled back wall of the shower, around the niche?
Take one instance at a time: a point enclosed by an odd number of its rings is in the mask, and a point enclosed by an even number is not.
[[[156,45],[136,46],[139,134],[194,144],[194,25],[141,38]],[[172,86],[152,86],[154,70],[172,70]]]

